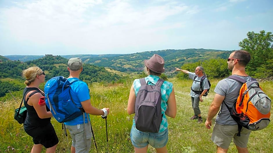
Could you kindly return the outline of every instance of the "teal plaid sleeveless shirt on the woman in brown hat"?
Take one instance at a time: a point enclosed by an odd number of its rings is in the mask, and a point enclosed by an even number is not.
[[[158,79],[159,79],[158,76],[149,75],[148,77],[145,78],[145,81],[146,82],[149,81],[148,84],[151,84],[150,82],[156,84]],[[139,92],[139,88],[141,86],[139,79],[135,79],[133,85],[134,85],[134,92],[136,93],[136,96],[137,96],[137,93]],[[173,83],[164,81],[160,89],[161,89],[161,112],[162,112],[161,114],[163,114],[163,117],[162,117],[159,132],[163,132],[164,130],[168,128],[168,122],[167,122],[165,112],[167,109],[167,101],[169,99],[170,93],[173,91]],[[135,127],[134,119],[133,119],[133,125]]]

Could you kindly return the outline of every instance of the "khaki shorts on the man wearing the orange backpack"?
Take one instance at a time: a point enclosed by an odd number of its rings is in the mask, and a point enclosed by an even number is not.
[[[233,139],[233,142],[236,146],[241,148],[247,148],[247,142],[250,135],[251,130],[246,128],[242,128],[241,136],[237,136],[238,133],[238,125],[220,125],[215,123],[213,127],[213,132],[211,136],[211,140],[217,146],[228,149]]]

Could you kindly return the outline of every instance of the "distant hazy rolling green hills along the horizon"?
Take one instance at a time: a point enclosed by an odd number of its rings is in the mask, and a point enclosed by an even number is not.
[[[152,57],[153,54],[159,54],[165,59],[165,69],[166,73],[168,73],[171,72],[174,67],[181,67],[184,63],[193,63],[196,61],[204,61],[208,59],[227,58],[231,52],[232,51],[201,48],[184,50],[168,49],[137,52],[133,54],[78,54],[63,55],[62,57],[66,59],[79,57],[84,61],[84,63],[103,66],[105,68],[111,68],[121,72],[141,72],[144,66],[143,61]],[[14,56],[18,56],[18,59],[22,58],[20,55]]]

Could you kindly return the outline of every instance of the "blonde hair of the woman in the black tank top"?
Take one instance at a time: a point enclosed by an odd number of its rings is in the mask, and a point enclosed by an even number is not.
[[[22,72],[23,77],[26,78],[26,81],[24,83],[26,85],[30,85],[30,83],[36,79],[36,76],[40,75],[42,72],[42,69],[40,69],[38,66],[33,66],[24,70]]]

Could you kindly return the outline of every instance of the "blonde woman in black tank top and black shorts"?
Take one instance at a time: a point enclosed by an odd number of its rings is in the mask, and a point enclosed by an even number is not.
[[[46,153],[53,153],[59,140],[50,122],[52,113],[46,105],[38,104],[39,99],[44,96],[39,85],[44,82],[45,74],[39,67],[30,67],[22,74],[27,85],[23,92],[24,105],[27,109],[24,130],[33,138],[31,153],[41,152],[43,146],[46,147]]]

